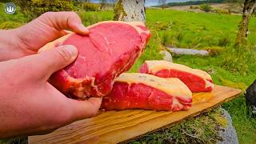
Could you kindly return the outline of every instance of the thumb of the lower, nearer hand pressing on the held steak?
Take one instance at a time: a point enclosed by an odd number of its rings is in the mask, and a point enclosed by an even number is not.
[[[58,46],[52,50],[34,54],[26,58],[26,65],[30,66],[30,74],[48,79],[57,70],[70,65],[78,56],[75,46]]]

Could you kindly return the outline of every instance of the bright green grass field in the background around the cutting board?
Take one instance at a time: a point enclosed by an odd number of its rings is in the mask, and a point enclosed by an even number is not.
[[[112,11],[79,14],[86,26],[113,18]],[[256,18],[250,22],[248,46],[234,48],[240,19],[240,16],[227,14],[146,10],[146,25],[151,30],[152,38],[145,53],[130,71],[136,71],[146,59],[161,59],[159,50],[164,48],[162,43],[194,49],[218,48],[222,51],[213,56],[174,56],[174,62],[206,70],[217,84],[246,89],[256,79]],[[26,23],[26,17],[22,14],[7,15],[0,11],[0,28],[13,28],[23,23]],[[256,118],[248,114],[243,95],[222,106],[233,118],[239,142],[256,143]]]

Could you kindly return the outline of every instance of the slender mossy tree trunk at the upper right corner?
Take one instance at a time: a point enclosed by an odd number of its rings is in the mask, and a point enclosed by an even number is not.
[[[244,2],[244,7],[242,10],[242,20],[239,23],[239,30],[237,38],[235,40],[235,45],[239,46],[246,43],[246,38],[248,34],[248,25],[250,22],[250,17],[254,13],[256,6],[255,0],[246,0]]]

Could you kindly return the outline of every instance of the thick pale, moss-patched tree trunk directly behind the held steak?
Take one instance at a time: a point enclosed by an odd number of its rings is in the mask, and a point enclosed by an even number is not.
[[[146,22],[145,0],[118,0],[114,7],[114,20]]]

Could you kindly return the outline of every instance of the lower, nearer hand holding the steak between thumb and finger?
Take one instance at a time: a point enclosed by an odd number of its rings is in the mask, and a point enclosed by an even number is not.
[[[45,134],[97,114],[102,98],[78,101],[51,86],[47,79],[78,55],[74,46],[0,62],[0,138]]]

